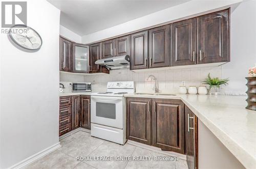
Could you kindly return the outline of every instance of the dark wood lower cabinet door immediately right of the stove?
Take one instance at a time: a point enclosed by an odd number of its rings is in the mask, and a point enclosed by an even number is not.
[[[126,138],[151,145],[151,99],[127,98]]]

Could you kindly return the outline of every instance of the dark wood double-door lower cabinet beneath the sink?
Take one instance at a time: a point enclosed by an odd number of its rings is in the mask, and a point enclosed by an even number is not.
[[[173,99],[127,98],[126,138],[185,154],[184,103]]]

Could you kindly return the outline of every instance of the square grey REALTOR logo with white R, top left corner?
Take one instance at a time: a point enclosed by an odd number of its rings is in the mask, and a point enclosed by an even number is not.
[[[27,2],[2,2],[2,27],[27,25]]]

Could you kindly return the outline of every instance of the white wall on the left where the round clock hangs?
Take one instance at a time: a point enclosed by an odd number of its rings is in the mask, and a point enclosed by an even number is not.
[[[59,16],[45,0],[28,0],[28,26],[42,38],[37,52],[1,41],[0,168],[59,143]]]

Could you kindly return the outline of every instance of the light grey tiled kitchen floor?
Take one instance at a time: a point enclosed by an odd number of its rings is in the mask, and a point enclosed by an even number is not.
[[[35,161],[26,169],[39,168],[177,168],[187,169],[186,161],[79,161],[77,156],[141,156],[162,157],[166,155],[151,150],[142,149],[129,144],[124,146],[91,137],[87,132],[76,132],[60,141],[61,148]],[[168,157],[168,156],[167,156]]]

